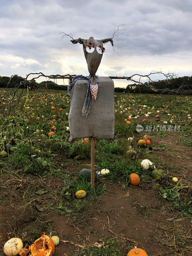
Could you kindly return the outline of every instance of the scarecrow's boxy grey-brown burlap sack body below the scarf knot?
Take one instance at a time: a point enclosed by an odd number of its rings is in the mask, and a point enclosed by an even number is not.
[[[114,138],[114,83],[109,77],[98,76],[98,92],[92,101],[89,115],[82,116],[87,91],[87,80],[78,80],[71,91],[69,111],[69,142],[75,139],[95,137],[96,139]]]

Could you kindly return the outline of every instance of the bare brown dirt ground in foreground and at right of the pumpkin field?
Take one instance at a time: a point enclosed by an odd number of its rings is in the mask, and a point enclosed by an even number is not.
[[[143,134],[140,133],[138,136]],[[178,144],[175,137],[175,132],[167,133],[163,138],[156,138],[152,135],[153,145],[158,148],[158,144],[161,144],[164,148],[152,150],[149,159],[151,157],[153,161],[152,158],[155,157],[157,164],[166,163],[167,166],[172,166],[168,171],[173,176],[183,179],[186,184],[191,184],[191,151],[184,148],[182,143]],[[139,157],[142,159],[142,152]],[[89,161],[83,163],[89,164]],[[86,168],[86,165],[79,166],[79,171],[83,167]],[[73,171],[73,166],[69,165],[68,169]],[[40,222],[44,225],[51,223],[54,234],[59,236],[60,240],[68,241],[60,242],[55,249],[55,256],[78,255],[77,251],[81,250],[84,245],[99,243],[101,238],[110,236],[123,246],[123,255],[126,255],[135,243],[140,248],[144,248],[149,256],[174,255],[170,254],[172,252],[175,255],[181,255],[177,253],[178,246],[175,240],[182,241],[182,235],[189,239],[192,235],[191,220],[184,219],[181,215],[179,221],[174,221],[169,204],[159,200],[158,190],[154,184],[145,180],[137,187],[130,186],[125,189],[123,184],[106,182],[107,194],[100,198],[100,204],[105,211],[98,212],[93,209],[89,218],[81,224],[74,224],[68,215],[61,216],[42,208],[50,202],[54,203],[51,195],[54,190],[63,186],[61,179],[47,180],[45,176],[40,180],[38,177],[28,177],[28,180],[23,180],[19,175],[13,175],[4,179],[4,183],[7,189],[3,194],[10,204],[0,204],[0,253],[3,256],[3,245],[11,232],[19,232],[19,229],[23,230],[25,225],[27,239],[27,230],[34,229],[35,236]],[[27,193],[25,188],[35,188],[37,183],[38,189],[47,191],[44,198],[41,200],[37,198],[38,202],[32,199],[29,204],[23,205],[22,201]],[[23,236],[25,238],[25,234]],[[182,247],[182,244],[180,246]],[[182,255],[191,255],[191,249],[183,248]]]

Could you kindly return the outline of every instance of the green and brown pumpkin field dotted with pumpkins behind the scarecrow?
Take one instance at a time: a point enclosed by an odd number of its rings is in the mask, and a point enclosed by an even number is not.
[[[73,255],[76,248],[79,255],[182,255],[191,246],[192,98],[115,95],[114,138],[95,139],[94,189],[91,139],[68,142],[67,91],[32,92],[26,108],[23,94],[16,114],[0,114],[0,251],[9,236],[23,239],[20,256]],[[2,94],[1,103],[3,98],[9,99]],[[82,225],[92,227],[91,243]],[[166,227],[177,231],[175,241]],[[142,249],[136,253],[133,244]]]

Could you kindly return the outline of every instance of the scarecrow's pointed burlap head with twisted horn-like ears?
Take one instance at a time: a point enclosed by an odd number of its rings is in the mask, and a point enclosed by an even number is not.
[[[78,38],[75,40],[71,40],[71,42],[73,44],[77,44],[77,43],[83,44],[83,51],[84,51],[85,59],[87,61],[87,67],[88,67],[90,75],[95,75],[95,73],[97,72],[97,69],[99,68],[103,54],[105,54],[105,53],[102,53],[102,54],[98,53],[97,49],[96,49],[97,46],[99,46],[99,45],[103,46],[103,43],[107,43],[107,42],[111,42],[111,44],[113,46],[112,38],[95,40],[92,36],[89,39]],[[89,43],[94,45],[94,51],[91,53],[86,51],[87,46],[85,44],[89,44]]]

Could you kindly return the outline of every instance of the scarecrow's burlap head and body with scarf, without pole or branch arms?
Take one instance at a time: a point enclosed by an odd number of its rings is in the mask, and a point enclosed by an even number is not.
[[[114,82],[110,77],[97,76],[103,54],[104,43],[112,38],[96,40],[72,39],[73,44],[83,44],[89,76],[78,75],[68,85],[71,96],[69,111],[69,142],[74,139],[94,137],[96,139],[114,138]]]

